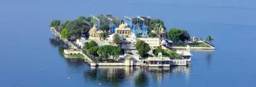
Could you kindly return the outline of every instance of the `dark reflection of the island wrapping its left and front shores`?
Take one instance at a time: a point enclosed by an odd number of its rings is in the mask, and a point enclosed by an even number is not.
[[[57,38],[50,38],[50,44],[59,48],[59,54],[64,58],[65,44]],[[170,74],[185,74],[185,80],[189,80],[190,66],[175,66],[170,68],[141,68],[129,66],[98,66],[93,67],[84,63],[84,59],[64,58],[69,65],[70,73],[83,72],[85,81],[101,83],[104,86],[124,86],[125,81],[132,82],[131,86],[146,87],[151,81],[161,84],[164,79],[170,79]],[[86,69],[87,68],[87,69]],[[84,70],[86,69],[86,70]],[[76,73],[78,74],[78,73]],[[128,79],[128,80],[127,80]],[[126,86],[126,85],[125,85]]]

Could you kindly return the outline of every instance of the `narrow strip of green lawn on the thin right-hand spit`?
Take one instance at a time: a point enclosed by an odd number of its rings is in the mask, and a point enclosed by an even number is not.
[[[182,45],[174,45],[174,47],[187,47],[187,45],[189,45],[190,47],[206,47],[206,48],[210,48],[210,46],[208,46],[205,43],[185,43]]]

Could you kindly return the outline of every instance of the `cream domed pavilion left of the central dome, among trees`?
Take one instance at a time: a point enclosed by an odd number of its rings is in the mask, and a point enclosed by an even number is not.
[[[89,31],[89,39],[100,39],[100,33],[103,33],[102,30],[97,30],[96,26]]]

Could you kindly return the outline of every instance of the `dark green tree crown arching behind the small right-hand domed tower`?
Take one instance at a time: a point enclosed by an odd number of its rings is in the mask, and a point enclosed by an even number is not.
[[[152,19],[149,22],[149,32],[151,32],[152,30],[154,30],[154,26],[156,26],[156,24],[160,24],[164,29],[165,28],[165,24],[163,23],[163,21],[161,21],[160,19]]]

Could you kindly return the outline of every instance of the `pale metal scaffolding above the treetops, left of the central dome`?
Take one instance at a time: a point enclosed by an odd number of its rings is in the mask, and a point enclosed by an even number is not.
[[[120,25],[121,22],[122,22],[122,19],[116,18],[111,14],[100,15],[100,16],[91,15],[91,23],[93,24],[98,23],[99,25],[113,26],[113,25]]]

